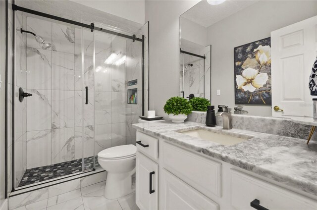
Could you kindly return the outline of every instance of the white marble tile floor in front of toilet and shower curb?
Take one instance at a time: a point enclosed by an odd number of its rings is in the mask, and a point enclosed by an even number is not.
[[[14,210],[139,210],[135,193],[108,200],[104,197],[106,181],[51,197]]]

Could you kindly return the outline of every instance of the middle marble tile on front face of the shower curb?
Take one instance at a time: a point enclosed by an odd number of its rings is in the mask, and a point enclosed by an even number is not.
[[[49,187],[49,198],[71,192],[80,188],[80,179],[71,180]]]

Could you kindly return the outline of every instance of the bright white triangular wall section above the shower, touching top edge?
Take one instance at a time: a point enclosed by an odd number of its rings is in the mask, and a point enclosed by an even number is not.
[[[144,0],[72,0],[137,23],[145,23]]]

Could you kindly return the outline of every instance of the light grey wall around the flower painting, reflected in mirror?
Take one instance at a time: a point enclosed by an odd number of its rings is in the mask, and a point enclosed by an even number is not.
[[[317,1],[259,1],[208,27],[211,103],[234,107],[233,48],[270,37],[270,32],[317,15]],[[216,95],[216,90],[221,95]],[[271,116],[270,106],[249,105],[250,115]]]

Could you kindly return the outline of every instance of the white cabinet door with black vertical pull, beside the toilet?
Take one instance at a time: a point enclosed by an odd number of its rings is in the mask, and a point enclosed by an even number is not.
[[[140,210],[159,209],[159,165],[136,153],[136,204]]]

